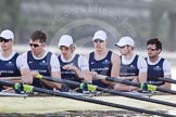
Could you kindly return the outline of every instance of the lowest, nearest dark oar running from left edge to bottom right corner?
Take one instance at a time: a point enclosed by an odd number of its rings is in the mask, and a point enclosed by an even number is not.
[[[164,116],[164,117],[176,117],[174,115],[169,115],[169,114],[165,114],[165,113],[161,113],[161,112],[148,110],[148,109],[142,109],[142,108],[137,108],[137,107],[110,103],[110,102],[100,101],[100,100],[93,100],[93,99],[88,99],[88,98],[70,95],[70,94],[60,93],[60,92],[56,92],[56,91],[53,91],[53,90],[37,88],[37,87],[23,84],[23,83],[13,83],[13,82],[10,82],[10,81],[0,80],[0,84],[13,87],[17,91],[27,91],[27,92],[34,92],[35,91],[35,92],[46,93],[46,94],[55,95],[55,96],[89,102],[89,103],[99,104],[99,105],[105,105],[105,106],[111,106],[111,107],[117,107],[117,108],[134,110],[134,112],[138,112],[138,113],[146,113],[146,114],[159,115],[159,116]]]

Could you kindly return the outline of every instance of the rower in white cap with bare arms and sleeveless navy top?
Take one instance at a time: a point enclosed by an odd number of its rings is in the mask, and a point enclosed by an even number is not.
[[[114,84],[113,82],[104,79],[96,79],[95,77],[99,74],[117,78],[120,73],[120,56],[108,50],[108,37],[104,30],[97,30],[92,41],[95,51],[88,56],[89,69],[93,77],[92,83],[98,87],[110,88]]]

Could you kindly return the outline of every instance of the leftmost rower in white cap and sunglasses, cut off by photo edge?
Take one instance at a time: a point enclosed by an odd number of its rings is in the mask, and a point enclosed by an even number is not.
[[[14,34],[5,29],[0,34],[0,77],[21,77],[26,83],[32,83],[32,75],[27,64],[13,50]],[[26,80],[24,80],[26,79]],[[3,87],[0,86],[0,90]]]

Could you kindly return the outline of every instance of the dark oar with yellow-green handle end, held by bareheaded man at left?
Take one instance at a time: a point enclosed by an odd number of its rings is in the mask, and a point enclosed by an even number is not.
[[[49,80],[49,81],[54,81],[54,82],[60,82],[60,83],[72,84],[72,86],[80,87],[80,89],[84,89],[84,90],[104,91],[104,92],[115,94],[115,95],[122,95],[122,96],[125,96],[125,98],[131,98],[131,99],[140,100],[140,101],[152,102],[152,103],[156,103],[156,104],[176,107],[176,104],[174,104],[174,103],[159,101],[159,100],[154,100],[154,99],[142,98],[142,96],[137,96],[137,95],[134,95],[134,94],[128,94],[128,93],[124,93],[124,92],[121,92],[121,91],[110,90],[110,89],[97,87],[97,86],[93,86],[93,84],[79,83],[79,82],[76,82],[76,81],[71,81],[71,80],[65,80],[65,79],[60,79],[60,78],[52,78],[52,77],[42,76],[42,75],[37,75],[36,78],[46,79],[46,80]]]

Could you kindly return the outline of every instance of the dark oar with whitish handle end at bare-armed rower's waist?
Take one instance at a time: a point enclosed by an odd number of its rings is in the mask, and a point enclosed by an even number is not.
[[[161,91],[161,92],[165,92],[165,93],[169,93],[169,94],[176,94],[176,91],[174,91],[174,90],[168,90],[168,89],[160,88],[160,87],[148,84],[148,83],[133,82],[133,81],[129,81],[129,80],[122,80],[120,78],[108,77],[108,76],[103,76],[103,75],[97,75],[96,78],[138,87],[138,88],[141,88],[141,89],[148,90],[148,91]]]

